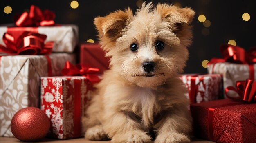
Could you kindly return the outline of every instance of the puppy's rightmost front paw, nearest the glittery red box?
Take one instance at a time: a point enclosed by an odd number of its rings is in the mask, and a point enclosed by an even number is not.
[[[190,143],[190,139],[184,134],[166,133],[159,134],[155,143]]]

